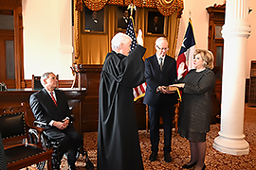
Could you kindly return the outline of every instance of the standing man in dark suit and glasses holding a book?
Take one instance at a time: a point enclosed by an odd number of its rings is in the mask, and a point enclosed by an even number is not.
[[[159,144],[159,116],[162,113],[164,127],[164,160],[172,161],[172,128],[176,93],[167,91],[166,86],[174,84],[176,79],[176,61],[167,56],[168,42],[164,37],[155,41],[156,53],[145,59],[145,78],[147,82],[144,104],[149,107],[150,140],[152,154],[150,161],[155,161]]]

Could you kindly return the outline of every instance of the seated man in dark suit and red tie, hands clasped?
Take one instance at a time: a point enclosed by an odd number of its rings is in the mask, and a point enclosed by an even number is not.
[[[56,76],[51,72],[41,76],[41,83],[44,88],[37,93],[32,93],[29,103],[35,120],[44,124],[41,127],[46,128],[46,136],[51,140],[60,142],[59,153],[54,152],[52,154],[57,159],[57,163],[53,162],[54,169],[60,169],[64,152],[68,151],[69,169],[73,170],[76,169],[76,154],[80,144],[82,144],[82,137],[70,125],[71,117],[67,99],[64,92],[55,89],[57,81]]]

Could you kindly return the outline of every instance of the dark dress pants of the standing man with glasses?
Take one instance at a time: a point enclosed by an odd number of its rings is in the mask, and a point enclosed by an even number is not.
[[[174,106],[172,104],[159,104],[158,106],[149,106],[149,116],[150,116],[150,141],[152,152],[158,151],[159,144],[159,117],[160,112],[163,117],[163,127],[164,127],[164,152],[171,152],[172,145],[172,128],[173,128],[173,118],[174,118]]]

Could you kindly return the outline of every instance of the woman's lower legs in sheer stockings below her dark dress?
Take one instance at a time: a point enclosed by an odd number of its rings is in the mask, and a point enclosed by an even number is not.
[[[206,142],[199,142],[199,143],[190,142],[190,144],[191,144],[191,161],[188,163],[188,165],[197,161],[194,169],[200,170],[204,166],[207,144]]]

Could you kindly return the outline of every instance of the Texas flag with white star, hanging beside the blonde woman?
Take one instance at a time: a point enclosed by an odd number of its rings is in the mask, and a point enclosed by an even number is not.
[[[187,69],[187,71],[183,74],[183,76],[186,76],[188,74],[188,71],[190,71],[193,68],[192,55],[195,49],[196,49],[196,46],[195,46],[195,40],[194,40],[193,30],[192,30],[192,20],[191,18],[189,18],[189,25],[187,27],[185,37],[180,47],[178,58],[176,60],[177,69],[180,63],[182,62],[185,63],[185,69]]]

